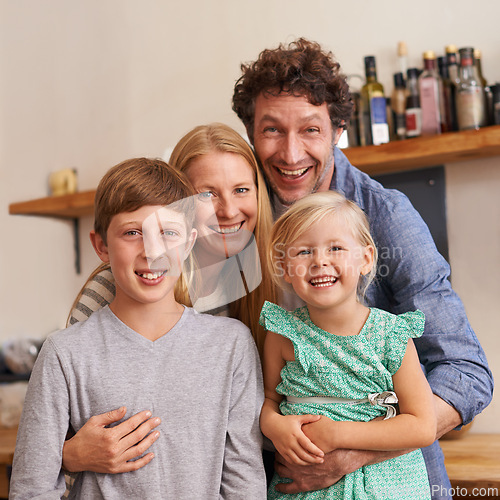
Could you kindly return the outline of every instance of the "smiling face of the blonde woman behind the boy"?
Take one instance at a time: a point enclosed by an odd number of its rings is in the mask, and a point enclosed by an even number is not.
[[[247,161],[211,152],[192,160],[186,175],[198,194],[197,258],[201,263],[241,252],[257,223],[257,186]]]

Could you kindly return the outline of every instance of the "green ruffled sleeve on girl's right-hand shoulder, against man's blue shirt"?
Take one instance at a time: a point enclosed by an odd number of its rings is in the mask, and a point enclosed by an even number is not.
[[[385,359],[391,375],[399,370],[410,338],[424,333],[425,315],[422,311],[410,311],[394,316],[392,331],[387,331]]]

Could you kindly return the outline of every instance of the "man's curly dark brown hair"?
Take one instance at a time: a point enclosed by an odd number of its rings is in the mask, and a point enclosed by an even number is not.
[[[317,42],[299,38],[276,49],[263,50],[253,63],[242,64],[234,87],[233,111],[253,140],[255,99],[265,92],[306,96],[311,104],[326,102],[334,129],[346,127],[353,101],[346,76],[331,52]]]

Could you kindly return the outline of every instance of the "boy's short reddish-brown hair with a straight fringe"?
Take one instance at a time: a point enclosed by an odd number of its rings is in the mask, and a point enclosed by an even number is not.
[[[194,220],[194,191],[178,170],[159,159],[132,158],[110,168],[99,182],[94,199],[94,230],[107,244],[111,219],[144,206],[175,205],[186,216],[190,229]]]

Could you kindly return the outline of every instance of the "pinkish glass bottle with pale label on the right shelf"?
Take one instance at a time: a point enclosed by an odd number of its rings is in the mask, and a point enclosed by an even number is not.
[[[422,108],[422,135],[440,134],[441,123],[444,122],[443,82],[433,50],[424,52],[424,70],[418,77],[418,90]]]

